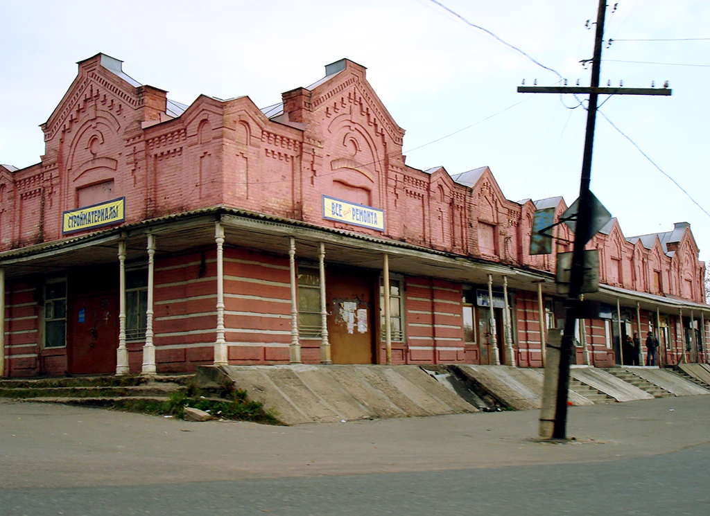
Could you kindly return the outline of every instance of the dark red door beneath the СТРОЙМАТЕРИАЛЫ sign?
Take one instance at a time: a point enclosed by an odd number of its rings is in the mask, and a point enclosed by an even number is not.
[[[116,293],[72,300],[68,338],[70,372],[116,372],[116,349],[119,347],[117,305]]]

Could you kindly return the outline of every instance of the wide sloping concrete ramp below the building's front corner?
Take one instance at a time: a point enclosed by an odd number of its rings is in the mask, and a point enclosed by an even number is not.
[[[286,425],[476,412],[418,366],[204,366],[200,386],[234,382]]]

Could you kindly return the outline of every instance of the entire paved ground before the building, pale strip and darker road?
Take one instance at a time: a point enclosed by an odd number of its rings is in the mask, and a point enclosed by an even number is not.
[[[710,396],[267,427],[0,402],[0,514],[707,515]],[[185,431],[187,430],[187,432]]]

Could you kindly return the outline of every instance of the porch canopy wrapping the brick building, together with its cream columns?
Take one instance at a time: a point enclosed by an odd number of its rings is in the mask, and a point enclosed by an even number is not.
[[[290,256],[293,315],[290,358],[293,362],[300,361],[295,301],[295,259],[318,262],[322,266],[321,271],[324,268],[324,262],[328,262],[382,270],[385,277],[388,276],[390,270],[393,270],[411,276],[435,277],[467,284],[488,284],[489,290],[493,285],[496,285],[502,286],[506,290],[513,288],[519,291],[537,291],[540,301],[543,295],[557,295],[554,275],[545,271],[520,269],[507,264],[461,257],[386,238],[323,228],[300,220],[264,215],[226,206],[213,206],[1,252],[0,314],[4,315],[4,292],[7,281],[19,279],[32,281],[33,278],[40,276],[64,274],[67,269],[119,262],[121,268],[120,305],[122,308],[119,318],[125,319],[124,264],[126,262],[148,262],[148,331],[144,348],[144,355],[147,354],[148,357],[144,357],[143,372],[155,372],[155,350],[152,342],[154,257],[155,255],[160,257],[161,255],[180,254],[213,245],[217,246],[218,254],[218,327],[215,364],[226,364],[224,300],[220,298],[223,296],[221,262],[222,249],[225,245]],[[324,291],[324,274],[323,272],[321,274],[321,288]],[[384,294],[385,315],[388,319],[388,289],[384,289]],[[599,292],[588,294],[587,298],[611,305],[650,310],[656,313],[677,315],[679,312],[685,311],[687,314],[699,314],[703,320],[704,314],[710,313],[709,305],[604,285],[600,286]],[[323,305],[323,314],[325,314],[324,310]],[[542,303],[540,303],[541,324],[542,316]],[[121,320],[121,325],[123,322]],[[325,318],[323,318],[323,323],[325,324]],[[222,325],[221,328],[220,325]],[[386,330],[388,327],[389,325],[386,325]],[[123,328],[122,330],[123,335],[119,336],[121,342],[119,342],[119,366],[117,368],[121,374],[128,372],[127,361],[121,357],[121,349],[125,351],[125,334]],[[509,328],[507,333],[510,333]],[[506,344],[509,342],[510,340],[506,338]],[[389,345],[389,342],[387,344]],[[542,344],[544,344],[544,337]],[[329,363],[327,332],[323,347],[322,361]],[[0,356],[4,356],[4,317],[0,318]],[[0,365],[4,366],[4,360],[0,361]],[[0,371],[0,374],[2,373],[4,371]]]

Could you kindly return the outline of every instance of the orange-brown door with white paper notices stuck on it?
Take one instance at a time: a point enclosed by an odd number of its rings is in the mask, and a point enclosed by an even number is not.
[[[333,364],[373,364],[376,273],[328,267],[328,340]]]

